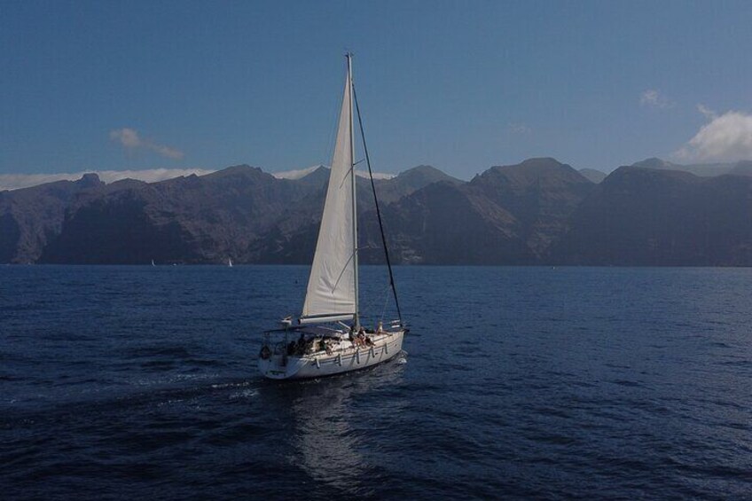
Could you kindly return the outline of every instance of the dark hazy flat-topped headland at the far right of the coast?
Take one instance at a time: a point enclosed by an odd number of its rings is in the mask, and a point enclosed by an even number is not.
[[[618,168],[552,249],[568,264],[752,265],[752,178]]]

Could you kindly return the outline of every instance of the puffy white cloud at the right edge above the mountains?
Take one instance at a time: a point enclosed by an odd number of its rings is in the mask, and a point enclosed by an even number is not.
[[[715,114],[697,109],[709,120],[678,152],[681,160],[734,161],[752,159],[752,114],[729,111]]]

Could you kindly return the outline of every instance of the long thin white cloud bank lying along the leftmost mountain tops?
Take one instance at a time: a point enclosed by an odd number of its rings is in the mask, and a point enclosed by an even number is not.
[[[154,183],[155,181],[164,181],[165,179],[192,174],[204,176],[215,171],[205,168],[149,168],[145,170],[87,170],[59,174],[0,174],[0,191],[18,190],[53,181],[75,181],[90,172],[97,174],[105,183],[114,183],[127,178]]]

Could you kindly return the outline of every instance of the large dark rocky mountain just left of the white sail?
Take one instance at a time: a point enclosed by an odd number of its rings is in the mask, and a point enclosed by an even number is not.
[[[42,262],[224,262],[306,190],[260,168],[235,166],[207,176],[129,184],[83,200],[68,211]]]

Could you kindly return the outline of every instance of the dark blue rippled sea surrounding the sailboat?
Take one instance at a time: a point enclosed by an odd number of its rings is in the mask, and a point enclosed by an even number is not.
[[[0,267],[0,497],[752,497],[752,270],[398,267],[394,362],[262,380],[307,275]]]

